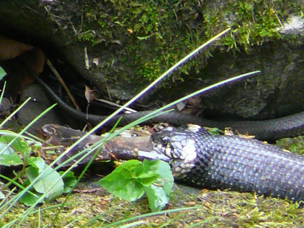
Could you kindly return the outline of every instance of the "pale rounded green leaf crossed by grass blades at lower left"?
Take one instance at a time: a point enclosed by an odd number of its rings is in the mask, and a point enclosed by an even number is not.
[[[44,160],[40,157],[31,157],[31,162],[35,166],[29,166],[25,169],[25,173],[30,182],[33,182],[41,172],[45,172],[43,176],[33,185],[34,189],[38,193],[46,193],[48,188],[53,185],[53,187],[48,191],[48,195],[45,198],[47,201],[52,200],[63,193],[64,184],[57,171],[54,171],[52,167],[45,164]],[[58,180],[56,183],[55,181]]]

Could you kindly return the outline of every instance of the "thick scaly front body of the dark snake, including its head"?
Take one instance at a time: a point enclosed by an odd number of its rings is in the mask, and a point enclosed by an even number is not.
[[[304,200],[302,155],[256,139],[210,135],[198,126],[169,127],[154,133],[151,141],[158,153],[172,158],[173,175],[186,185]]]

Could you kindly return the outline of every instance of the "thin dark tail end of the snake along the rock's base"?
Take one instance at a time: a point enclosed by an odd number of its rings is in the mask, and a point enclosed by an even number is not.
[[[37,76],[33,75],[37,82],[44,87],[44,89],[50,94],[54,102],[58,103],[65,112],[75,117],[76,119],[89,122],[92,125],[97,125],[108,116],[99,116],[92,114],[85,114],[75,108],[70,107],[64,103],[54,91],[48,87],[47,84]],[[104,126],[112,127],[117,120],[122,117],[118,126],[124,126],[132,121],[139,119],[142,116],[149,114],[151,111],[136,112],[132,114],[122,114],[113,117]],[[304,112],[300,112],[294,115],[263,121],[211,121],[196,116],[183,114],[180,112],[168,112],[164,115],[157,116],[153,119],[145,121],[145,124],[169,122],[175,126],[186,125],[188,123],[197,124],[206,127],[218,127],[224,130],[225,127],[231,127],[233,130],[237,130],[240,134],[248,132],[249,135],[255,135],[256,139],[274,141],[285,137],[295,137],[297,135],[304,134]]]

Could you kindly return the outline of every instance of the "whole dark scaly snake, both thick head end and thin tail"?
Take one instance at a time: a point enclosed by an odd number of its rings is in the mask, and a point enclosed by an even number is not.
[[[97,125],[107,116],[86,114],[64,103],[43,80],[36,78],[68,114]],[[114,116],[107,125],[126,125],[150,111]],[[172,168],[178,182],[196,188],[230,189],[258,195],[304,201],[304,156],[257,140],[276,140],[304,133],[304,112],[264,121],[210,121],[180,112],[167,112],[145,123],[169,122],[151,135],[154,152]],[[178,127],[188,124],[187,127]],[[232,127],[257,139],[237,135],[211,135],[204,127]],[[151,156],[155,153],[151,153]],[[149,156],[149,155],[148,155]],[[155,157],[155,156],[154,156]],[[156,156],[157,157],[157,156]],[[149,158],[149,157],[148,157]]]

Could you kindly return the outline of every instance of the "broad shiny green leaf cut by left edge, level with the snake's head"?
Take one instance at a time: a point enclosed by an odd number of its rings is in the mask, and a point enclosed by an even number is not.
[[[7,147],[7,144],[0,142],[0,151],[2,150],[0,165],[16,166],[22,164],[22,160],[17,153],[11,147]]]

